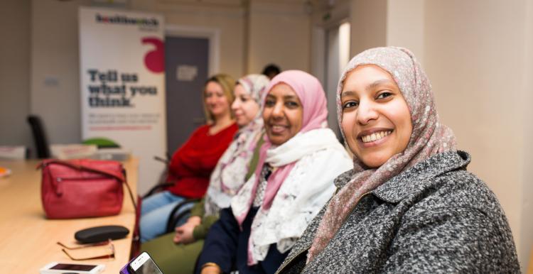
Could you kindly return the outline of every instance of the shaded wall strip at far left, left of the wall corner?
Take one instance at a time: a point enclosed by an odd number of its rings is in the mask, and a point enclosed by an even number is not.
[[[9,0],[0,9],[0,146],[32,148],[30,127],[30,0]]]

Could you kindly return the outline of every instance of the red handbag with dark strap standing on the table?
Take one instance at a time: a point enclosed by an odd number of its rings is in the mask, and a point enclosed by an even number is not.
[[[38,168],[43,170],[41,201],[48,219],[117,215],[124,197],[122,184],[134,202],[126,172],[117,161],[50,159]]]

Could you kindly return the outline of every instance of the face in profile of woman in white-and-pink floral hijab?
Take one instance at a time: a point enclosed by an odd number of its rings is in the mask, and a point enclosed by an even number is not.
[[[232,103],[232,111],[235,115],[235,121],[239,126],[246,126],[257,115],[259,104],[250,97],[250,94],[241,84],[235,86],[233,93],[235,94],[235,101]]]

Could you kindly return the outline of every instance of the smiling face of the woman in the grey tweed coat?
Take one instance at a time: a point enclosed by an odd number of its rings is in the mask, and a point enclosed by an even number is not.
[[[369,168],[407,148],[411,114],[391,75],[376,65],[348,73],[340,95],[343,132],[350,150]]]

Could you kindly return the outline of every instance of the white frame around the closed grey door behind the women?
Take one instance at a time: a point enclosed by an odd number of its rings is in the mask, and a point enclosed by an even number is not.
[[[197,26],[167,24],[165,36],[182,38],[207,38],[209,40],[208,77],[220,71],[220,30]]]

